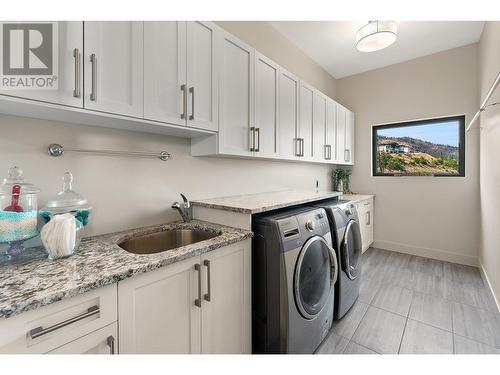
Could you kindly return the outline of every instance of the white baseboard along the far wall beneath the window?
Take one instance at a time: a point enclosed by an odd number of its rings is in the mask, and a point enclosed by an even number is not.
[[[431,249],[428,247],[417,247],[392,241],[378,241],[378,240],[376,240],[372,246],[378,249],[395,251],[398,253],[404,253],[410,255],[417,255],[424,258],[437,259],[445,262],[465,264],[467,266],[475,266],[475,267],[479,266],[479,260],[475,256],[452,253],[450,251],[441,249]]]

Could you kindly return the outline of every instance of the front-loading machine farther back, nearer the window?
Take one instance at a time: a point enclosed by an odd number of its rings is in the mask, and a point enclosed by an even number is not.
[[[359,296],[362,241],[358,213],[352,202],[336,198],[318,202],[315,206],[325,209],[327,213],[333,246],[339,260],[333,318],[340,319]]]

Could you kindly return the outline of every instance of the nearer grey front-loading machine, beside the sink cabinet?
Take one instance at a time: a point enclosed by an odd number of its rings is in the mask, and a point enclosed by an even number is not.
[[[321,208],[254,216],[254,353],[313,353],[332,325],[338,264]]]

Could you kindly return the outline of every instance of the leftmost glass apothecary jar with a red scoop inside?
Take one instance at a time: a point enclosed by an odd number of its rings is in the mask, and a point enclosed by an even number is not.
[[[24,181],[23,171],[11,167],[0,185],[0,243],[8,244],[6,255],[23,252],[23,242],[36,237],[38,189]]]

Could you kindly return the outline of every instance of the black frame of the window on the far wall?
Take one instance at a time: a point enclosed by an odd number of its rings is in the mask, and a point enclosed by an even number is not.
[[[434,123],[458,121],[458,174],[433,175],[398,175],[395,173],[381,173],[377,171],[377,131],[388,128],[402,128],[406,126],[429,125]],[[465,177],[465,115],[436,117],[423,120],[412,120],[372,126],[372,176],[373,177]]]

